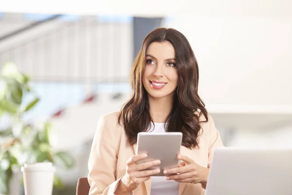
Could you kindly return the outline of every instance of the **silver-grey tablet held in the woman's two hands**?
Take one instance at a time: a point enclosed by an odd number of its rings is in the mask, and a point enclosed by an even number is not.
[[[164,176],[164,169],[178,166],[179,160],[177,156],[181,151],[182,138],[183,134],[181,132],[138,133],[137,154],[147,154],[147,157],[136,163],[160,160],[160,165],[153,166],[149,169],[160,169],[161,172],[153,176]]]

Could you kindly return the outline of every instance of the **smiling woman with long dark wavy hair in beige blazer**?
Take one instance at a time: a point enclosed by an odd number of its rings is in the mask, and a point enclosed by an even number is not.
[[[199,69],[192,48],[174,29],[153,30],[131,72],[132,96],[119,113],[100,117],[89,158],[90,195],[201,195],[216,147],[223,146],[198,95]],[[143,171],[136,165],[142,131],[182,132],[177,168]],[[150,177],[160,171],[173,176]],[[179,173],[179,175],[177,175]]]

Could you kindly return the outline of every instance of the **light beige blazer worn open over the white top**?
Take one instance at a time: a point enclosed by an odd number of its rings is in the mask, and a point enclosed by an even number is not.
[[[204,117],[201,118],[201,120]],[[214,149],[223,146],[212,117],[201,123],[199,146],[192,150],[181,147],[181,155],[210,168]],[[136,144],[130,146],[124,129],[118,124],[118,113],[99,118],[88,162],[89,195],[114,195],[117,184],[126,173],[127,160],[136,154]],[[150,195],[151,179],[141,183],[133,195]],[[203,195],[201,184],[180,183],[179,195]]]

